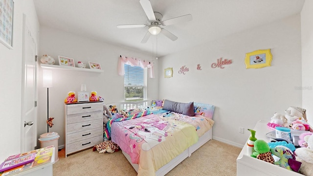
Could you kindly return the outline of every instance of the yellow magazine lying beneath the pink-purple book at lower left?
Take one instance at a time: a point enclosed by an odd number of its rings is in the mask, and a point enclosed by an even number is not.
[[[21,172],[21,171],[23,171],[25,169],[29,169],[29,168],[33,168],[33,167],[36,167],[36,166],[40,166],[40,165],[43,165],[45,163],[50,163],[51,162],[51,158],[53,156],[53,151],[54,151],[54,147],[53,146],[48,146],[48,147],[44,147],[44,148],[41,148],[41,149],[30,151],[30,152],[27,152],[27,153],[16,154],[16,155],[9,156],[6,160],[14,159],[14,158],[17,158],[19,156],[26,156],[26,155],[29,155],[29,154],[35,154],[35,157],[34,157],[33,161],[31,161],[29,163],[26,163],[26,164],[23,164],[23,165],[20,165],[20,166],[16,166],[16,167],[14,167],[12,169],[8,169],[8,170],[5,170],[5,171],[2,171],[2,172],[0,172],[0,176],[7,176],[7,175],[10,175],[10,174]]]

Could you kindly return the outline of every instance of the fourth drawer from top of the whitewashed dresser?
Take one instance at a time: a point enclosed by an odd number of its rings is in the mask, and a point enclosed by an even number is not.
[[[73,132],[67,134],[67,144],[85,140],[88,138],[96,137],[102,135],[103,136],[103,127],[91,129],[91,130],[85,130],[82,132]]]

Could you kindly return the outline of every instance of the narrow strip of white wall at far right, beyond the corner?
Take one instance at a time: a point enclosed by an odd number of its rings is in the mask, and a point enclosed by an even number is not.
[[[313,124],[313,1],[306,0],[301,11],[302,105]]]

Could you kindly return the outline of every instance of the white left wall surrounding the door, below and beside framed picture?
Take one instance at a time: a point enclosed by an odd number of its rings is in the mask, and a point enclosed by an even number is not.
[[[38,41],[39,22],[33,0],[15,0],[13,49],[10,50],[0,43],[0,161],[21,152],[23,14],[32,29],[32,36]]]

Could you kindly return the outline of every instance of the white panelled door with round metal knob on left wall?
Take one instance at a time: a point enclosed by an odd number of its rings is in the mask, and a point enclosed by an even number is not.
[[[37,63],[36,41],[34,40],[26,16],[23,14],[22,45],[22,127],[21,152],[34,150],[37,146]]]

